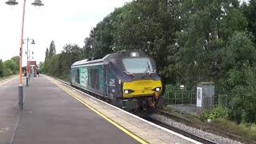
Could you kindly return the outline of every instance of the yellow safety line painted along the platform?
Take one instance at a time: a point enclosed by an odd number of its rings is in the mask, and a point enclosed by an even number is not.
[[[106,115],[102,114],[101,112],[99,112],[98,110],[94,109],[92,106],[90,106],[89,104],[87,104],[86,102],[83,102],[80,98],[78,98],[78,94],[71,94],[69,90],[67,90],[66,88],[64,88],[63,86],[59,85],[57,82],[54,82],[53,80],[51,80],[50,78],[47,78],[48,80],[50,80],[50,82],[53,82],[55,85],[57,85],[58,87],[60,87],[62,90],[65,90],[66,93],[70,94],[73,98],[75,98],[78,102],[81,102],[83,105],[87,106],[90,108],[90,110],[93,110],[96,114],[102,116],[102,118],[106,119],[106,121],[110,122],[111,124],[113,124],[114,126],[118,127],[118,129],[122,130],[123,132],[125,132],[126,134],[130,135],[130,137],[134,138],[135,140],[137,140],[138,142],[141,142],[142,144],[147,144],[148,142],[142,140],[142,138],[139,138],[137,135],[131,133],[129,130],[126,130],[124,127],[118,125],[118,123],[114,122],[113,120],[111,120],[110,118],[106,117]]]

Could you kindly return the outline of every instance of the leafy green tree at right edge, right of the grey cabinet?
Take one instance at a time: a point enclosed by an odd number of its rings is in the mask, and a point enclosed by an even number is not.
[[[228,73],[225,74],[222,90],[229,95],[231,118],[237,122],[256,120],[256,95],[253,88],[256,86],[256,48],[250,38],[250,34],[237,32],[223,50],[222,67]]]

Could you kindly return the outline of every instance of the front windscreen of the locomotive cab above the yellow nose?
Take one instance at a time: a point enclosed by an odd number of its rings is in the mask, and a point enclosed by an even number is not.
[[[123,58],[122,63],[126,72],[132,74],[142,74],[153,71],[149,58]]]

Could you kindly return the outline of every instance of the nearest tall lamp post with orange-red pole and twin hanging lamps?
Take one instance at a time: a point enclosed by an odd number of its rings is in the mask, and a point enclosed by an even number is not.
[[[26,0],[23,0],[23,10],[22,10],[22,35],[21,35],[21,48],[20,48],[20,58],[19,58],[19,85],[18,85],[18,106],[22,110],[23,109],[23,85],[22,85],[22,41],[23,41],[23,30],[24,30],[24,18],[25,18],[25,7],[26,7]],[[18,2],[16,0],[8,0],[6,2],[7,5],[14,6],[17,5]],[[41,0],[34,0],[31,3],[34,6],[43,6]]]

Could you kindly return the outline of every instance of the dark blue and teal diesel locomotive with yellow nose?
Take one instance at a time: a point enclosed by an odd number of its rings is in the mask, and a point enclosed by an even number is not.
[[[162,94],[155,62],[141,50],[122,50],[101,59],[74,62],[70,85],[126,110],[154,109]]]

